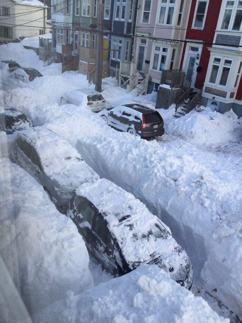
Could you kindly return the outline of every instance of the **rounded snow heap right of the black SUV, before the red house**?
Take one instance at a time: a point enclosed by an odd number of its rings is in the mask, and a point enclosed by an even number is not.
[[[207,108],[202,112],[193,110],[182,118],[172,119],[165,127],[168,134],[195,145],[209,147],[234,140],[233,132],[239,127],[239,120],[233,111],[220,114]]]

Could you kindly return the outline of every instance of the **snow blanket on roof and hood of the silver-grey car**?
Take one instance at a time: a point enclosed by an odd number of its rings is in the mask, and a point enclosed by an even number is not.
[[[20,136],[35,147],[45,174],[60,188],[73,190],[82,183],[99,178],[76,149],[54,132],[35,128],[35,131]]]

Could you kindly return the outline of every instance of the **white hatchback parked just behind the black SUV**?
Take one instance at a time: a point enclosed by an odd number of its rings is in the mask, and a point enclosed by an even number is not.
[[[76,106],[83,105],[93,112],[101,111],[106,107],[106,102],[102,94],[90,88],[76,89],[64,93],[61,97],[61,104],[66,103]]]

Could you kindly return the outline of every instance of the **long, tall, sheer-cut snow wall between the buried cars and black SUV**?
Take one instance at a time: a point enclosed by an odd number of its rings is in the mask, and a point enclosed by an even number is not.
[[[76,146],[101,177],[133,193],[168,225],[205,289],[242,317],[238,166],[179,138],[134,138],[91,114],[48,127]]]

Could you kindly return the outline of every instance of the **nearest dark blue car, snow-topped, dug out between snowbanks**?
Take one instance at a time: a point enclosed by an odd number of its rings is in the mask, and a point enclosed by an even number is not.
[[[67,216],[72,218],[87,249],[114,276],[141,264],[156,264],[188,289],[193,269],[170,229],[134,195],[99,179],[76,189]]]

